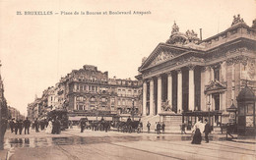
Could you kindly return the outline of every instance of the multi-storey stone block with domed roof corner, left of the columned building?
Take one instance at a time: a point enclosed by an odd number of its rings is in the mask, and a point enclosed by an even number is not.
[[[130,114],[141,112],[141,85],[138,80],[108,79],[107,72],[85,65],[74,70],[59,82],[63,86],[65,105],[72,112],[108,111]]]

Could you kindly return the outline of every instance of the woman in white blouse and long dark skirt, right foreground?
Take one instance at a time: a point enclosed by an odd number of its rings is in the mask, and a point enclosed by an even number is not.
[[[204,132],[204,124],[201,123],[201,119],[198,119],[198,122],[195,124],[192,133],[193,140],[192,144],[201,144],[202,141],[202,133]]]

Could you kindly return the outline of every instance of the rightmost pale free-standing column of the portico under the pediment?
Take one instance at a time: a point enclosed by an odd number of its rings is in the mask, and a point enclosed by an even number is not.
[[[188,110],[195,108],[195,81],[194,81],[195,66],[189,66],[189,82],[188,82]]]

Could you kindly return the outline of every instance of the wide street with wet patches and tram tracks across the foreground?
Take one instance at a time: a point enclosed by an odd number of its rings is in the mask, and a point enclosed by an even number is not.
[[[226,141],[213,134],[210,143],[191,144],[190,134],[93,132],[72,129],[5,137],[2,159],[255,159],[255,140]]]

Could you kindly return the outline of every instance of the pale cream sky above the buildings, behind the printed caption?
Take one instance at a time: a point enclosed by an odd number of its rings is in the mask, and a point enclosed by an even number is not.
[[[19,16],[17,11],[150,11],[151,15]],[[240,14],[251,27],[255,0],[0,0],[0,60],[8,105],[27,113],[34,95],[83,65],[132,78],[143,57],[165,42],[175,21],[203,39]]]

